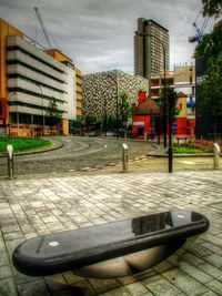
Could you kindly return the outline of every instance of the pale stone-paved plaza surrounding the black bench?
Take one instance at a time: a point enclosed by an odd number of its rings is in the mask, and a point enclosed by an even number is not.
[[[221,171],[1,180],[0,295],[222,295],[221,184]],[[37,278],[11,265],[14,247],[26,238],[172,208],[206,215],[210,228],[144,273],[119,279],[83,278],[71,272]]]

